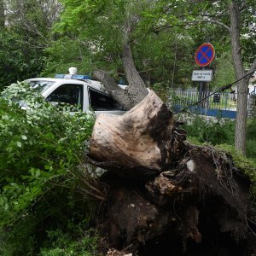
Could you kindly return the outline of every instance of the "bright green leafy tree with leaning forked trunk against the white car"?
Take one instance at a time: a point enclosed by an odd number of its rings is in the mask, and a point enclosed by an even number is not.
[[[154,15],[159,15],[154,1],[62,2],[64,12],[56,26],[59,36],[67,35],[67,32],[75,34],[84,48],[90,49],[91,67],[94,66],[94,70],[103,69],[111,72],[115,79],[125,77],[128,80],[125,96],[114,86],[113,80],[108,79],[108,83],[105,83],[106,86],[112,84],[111,88],[107,88],[108,92],[126,108],[131,108],[147,94],[144,81],[147,84],[162,81],[173,84],[174,78],[183,79],[184,67],[189,67],[185,62],[191,57],[188,55],[189,37],[152,30],[158,21]],[[179,50],[182,45],[185,50]],[[183,63],[180,65],[183,71],[179,75],[174,75],[179,69],[176,62]],[[113,63],[116,65],[114,70]],[[102,80],[107,78],[107,73],[97,70],[95,76]],[[127,97],[130,99],[125,102]]]

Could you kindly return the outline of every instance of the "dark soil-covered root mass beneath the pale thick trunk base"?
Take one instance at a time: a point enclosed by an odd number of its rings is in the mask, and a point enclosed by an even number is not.
[[[184,148],[172,169],[154,177],[107,172],[108,210],[98,229],[112,247],[128,247],[122,253],[132,255],[167,255],[169,246],[172,255],[253,255],[247,177],[229,154]]]

